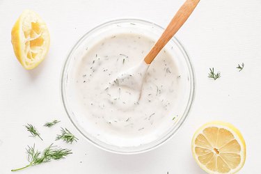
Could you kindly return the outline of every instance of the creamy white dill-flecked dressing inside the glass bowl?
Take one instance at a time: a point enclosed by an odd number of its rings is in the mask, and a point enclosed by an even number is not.
[[[116,81],[119,74],[140,65],[154,43],[144,35],[120,33],[97,42],[80,58],[74,74],[77,101],[88,122],[86,130],[96,139],[137,146],[155,141],[173,125],[181,84],[169,51],[161,50],[152,61],[141,93]]]

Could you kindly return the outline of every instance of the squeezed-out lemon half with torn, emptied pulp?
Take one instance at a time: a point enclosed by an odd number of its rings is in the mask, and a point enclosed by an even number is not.
[[[12,29],[15,56],[26,70],[35,68],[49,50],[50,37],[45,22],[31,10],[24,10]]]

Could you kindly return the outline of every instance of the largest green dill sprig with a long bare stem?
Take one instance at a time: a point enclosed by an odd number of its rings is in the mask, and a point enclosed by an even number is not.
[[[35,150],[35,145],[33,147],[28,146],[28,149],[26,149],[26,152],[28,154],[27,160],[29,161],[29,164],[17,169],[12,169],[11,171],[20,171],[24,168],[28,168],[31,166],[35,166],[38,164],[46,163],[51,161],[52,159],[58,160],[63,159],[65,156],[72,154],[71,150],[69,149],[63,149],[58,148],[56,145],[49,145],[45,150],[41,153],[38,150]]]

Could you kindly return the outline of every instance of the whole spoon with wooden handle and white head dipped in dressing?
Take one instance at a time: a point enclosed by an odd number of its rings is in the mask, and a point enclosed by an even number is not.
[[[126,108],[129,108],[130,106],[132,106],[132,104],[139,101],[141,97],[141,87],[143,85],[143,79],[148,70],[148,67],[150,66],[150,63],[152,63],[152,61],[157,56],[157,54],[159,54],[161,49],[167,44],[169,40],[171,40],[171,38],[173,38],[173,35],[177,33],[177,31],[184,24],[184,22],[186,22],[193,10],[196,8],[199,1],[200,0],[185,1],[180,10],[177,11],[176,15],[171,20],[171,23],[168,24],[167,28],[165,29],[164,33],[162,33],[159,40],[152,47],[147,56],[145,56],[144,61],[141,61],[139,65],[136,65],[134,68],[131,68],[126,72],[122,72],[122,74],[118,75],[118,78],[115,80],[117,82],[117,85],[113,85],[111,86],[111,88],[109,88],[109,93],[111,93],[110,96],[116,97],[116,95],[118,95],[118,89],[120,88],[122,90],[126,90],[126,93],[132,94],[132,97],[120,97],[122,99],[127,98],[133,100],[129,100],[128,102],[122,101],[123,103],[126,103],[124,104]],[[122,95],[126,93],[122,93]]]

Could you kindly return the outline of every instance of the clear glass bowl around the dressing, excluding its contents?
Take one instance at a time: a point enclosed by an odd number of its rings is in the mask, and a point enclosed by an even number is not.
[[[86,139],[88,139],[88,141],[95,144],[97,147],[119,154],[135,154],[152,150],[170,139],[171,136],[180,129],[184,120],[186,120],[193,101],[195,88],[194,74],[187,52],[180,44],[180,41],[175,37],[173,37],[164,48],[171,50],[171,54],[177,59],[177,67],[181,72],[180,76],[177,78],[180,78],[182,81],[181,83],[184,83],[184,93],[182,93],[178,107],[175,113],[173,113],[173,123],[171,123],[171,127],[169,127],[168,131],[164,134],[159,135],[156,140],[141,145],[124,147],[100,141],[88,132],[88,129],[84,125],[82,114],[80,114],[81,111],[79,111],[79,107],[77,106],[77,102],[74,102],[74,94],[76,91],[72,88],[72,84],[75,83],[73,73],[76,71],[75,69],[77,69],[75,68],[77,59],[84,55],[88,46],[93,45],[97,40],[101,40],[108,35],[108,33],[111,35],[113,35],[113,33],[139,33],[148,35],[150,38],[157,40],[163,31],[164,28],[161,26],[141,19],[118,19],[101,24],[91,31],[88,31],[88,33],[82,36],[74,47],[72,47],[72,50],[65,60],[61,78],[63,106],[65,107],[65,111],[72,121],[72,124],[84,137],[86,137]]]

